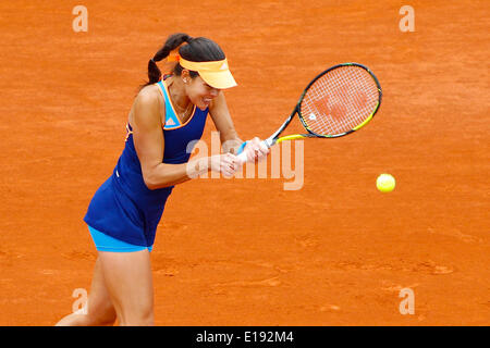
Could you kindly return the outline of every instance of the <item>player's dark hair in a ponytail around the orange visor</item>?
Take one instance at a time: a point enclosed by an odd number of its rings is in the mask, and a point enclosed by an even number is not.
[[[187,45],[181,46],[184,42],[186,42]],[[225,58],[218,44],[208,38],[193,38],[185,33],[172,34],[167,38],[163,47],[160,48],[160,50],[158,50],[154,58],[149,60],[148,82],[143,85],[142,88],[148,85],[156,84],[160,80],[161,71],[157,66],[156,62],[166,59],[170,54],[170,52],[176,49],[179,46],[181,46],[181,48],[179,49],[179,55],[192,62],[220,61]],[[182,70],[183,67],[181,66],[181,64],[176,63],[172,71],[172,74],[181,76]],[[192,78],[199,75],[194,71],[191,71],[189,73]]]

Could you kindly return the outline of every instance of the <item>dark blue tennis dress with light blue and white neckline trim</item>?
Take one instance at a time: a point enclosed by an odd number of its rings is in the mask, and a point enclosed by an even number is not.
[[[158,86],[164,98],[166,123],[163,163],[186,163],[193,140],[203,136],[208,109],[194,107],[193,114],[181,124],[170,101],[166,82]],[[94,195],[84,221],[93,228],[115,239],[143,247],[151,247],[158,223],[173,186],[150,190],[143,179],[142,166],[133,142],[133,128],[127,123],[124,150],[112,175]],[[187,148],[188,147],[188,148]]]

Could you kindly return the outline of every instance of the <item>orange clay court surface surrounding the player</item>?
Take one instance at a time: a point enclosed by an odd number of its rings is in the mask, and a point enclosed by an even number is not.
[[[359,132],[304,141],[299,190],[177,186],[151,253],[157,325],[489,325],[489,17],[485,0],[0,2],[0,325],[52,325],[89,289],[82,219],[175,32],[223,48],[243,139],[268,137],[336,63],[369,66],[383,101]],[[381,173],[394,191],[376,189]]]

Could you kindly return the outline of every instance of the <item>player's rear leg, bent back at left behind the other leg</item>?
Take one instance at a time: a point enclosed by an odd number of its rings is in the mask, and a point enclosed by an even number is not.
[[[87,306],[86,313],[78,311],[69,314],[60,320],[57,326],[102,326],[114,324],[115,309],[106,287],[102,265],[99,259],[97,259],[94,268]]]

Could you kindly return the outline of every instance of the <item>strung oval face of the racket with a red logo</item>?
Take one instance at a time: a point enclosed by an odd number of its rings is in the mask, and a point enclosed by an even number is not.
[[[378,102],[373,77],[360,66],[344,65],[328,72],[308,88],[301,114],[314,133],[340,135],[366,121]]]

